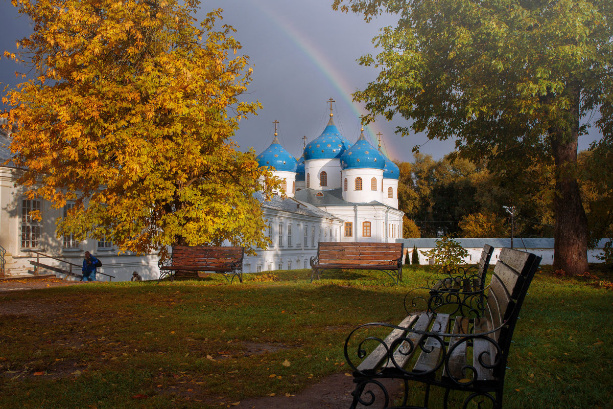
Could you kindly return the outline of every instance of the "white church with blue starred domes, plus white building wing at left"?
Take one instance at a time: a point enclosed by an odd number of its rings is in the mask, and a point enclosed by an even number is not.
[[[273,169],[281,179],[282,192],[271,201],[256,193],[272,244],[265,250],[254,249],[257,256],[245,256],[243,272],[308,268],[321,241],[402,239],[398,167],[363,132],[355,143],[350,142],[338,131],[330,110],[326,128],[305,145],[300,159],[281,146],[275,132],[273,143],[257,161]],[[10,161],[9,146],[10,132],[0,130],[0,276],[28,273],[37,258],[48,266],[80,273],[83,253],[90,251],[102,260],[100,270],[112,275],[113,281],[130,280],[134,270],[145,280],[158,278],[156,253],[118,254],[107,240],[58,239],[55,222],[67,208],[54,209],[49,202],[24,196],[24,188],[15,186],[20,169]],[[40,210],[42,220],[32,220],[31,210]],[[109,277],[97,275],[97,279]]]

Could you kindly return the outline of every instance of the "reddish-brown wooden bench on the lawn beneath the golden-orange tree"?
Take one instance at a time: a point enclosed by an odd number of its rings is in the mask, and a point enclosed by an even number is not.
[[[177,271],[215,272],[226,280],[235,277],[243,282],[244,247],[173,246],[169,259],[158,262],[159,279],[170,275],[170,281]]]

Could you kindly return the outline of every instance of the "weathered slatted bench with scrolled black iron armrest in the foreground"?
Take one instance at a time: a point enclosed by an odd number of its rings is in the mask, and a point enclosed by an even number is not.
[[[356,383],[351,408],[379,398],[387,408],[390,395],[384,380],[402,380],[405,386],[395,408],[432,407],[431,389],[440,390],[442,402],[436,404],[443,407],[481,407],[478,402],[486,401],[487,407],[501,408],[513,330],[540,261],[535,254],[503,248],[490,285],[478,292],[485,303],[474,310],[479,316],[426,310],[409,313],[397,326],[357,327],[345,342],[345,359]],[[422,404],[409,402],[409,381],[425,384]]]

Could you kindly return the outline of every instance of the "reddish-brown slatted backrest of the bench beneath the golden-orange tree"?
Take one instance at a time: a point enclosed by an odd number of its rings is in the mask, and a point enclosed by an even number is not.
[[[232,270],[242,267],[244,255],[244,247],[173,246],[172,265]]]

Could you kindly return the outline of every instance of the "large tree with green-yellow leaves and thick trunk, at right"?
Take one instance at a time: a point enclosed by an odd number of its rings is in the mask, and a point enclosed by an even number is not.
[[[577,183],[582,118],[607,117],[613,91],[610,0],[477,2],[335,0],[333,8],[398,15],[360,64],[381,69],[354,94],[370,120],[398,114],[398,132],[457,138],[465,158],[498,174],[553,165],[556,269],[588,269],[587,217]],[[611,119],[596,121],[603,134]]]

